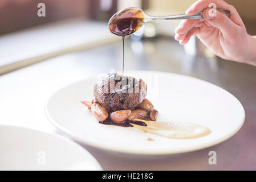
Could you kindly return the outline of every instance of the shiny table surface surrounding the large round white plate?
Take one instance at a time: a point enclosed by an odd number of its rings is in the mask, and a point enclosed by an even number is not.
[[[47,120],[47,99],[63,85],[92,75],[120,71],[120,43],[69,53],[0,76],[0,124],[30,127],[64,135]],[[197,77],[216,84],[245,108],[241,130],[230,139],[204,150],[176,155],[138,156],[104,151],[81,144],[105,170],[236,170],[256,169],[256,67],[217,57],[189,56],[173,38],[125,42],[125,69],[154,70]],[[65,135],[64,135],[65,136]],[[66,136],[65,136],[66,137]],[[216,151],[217,164],[208,163]]]

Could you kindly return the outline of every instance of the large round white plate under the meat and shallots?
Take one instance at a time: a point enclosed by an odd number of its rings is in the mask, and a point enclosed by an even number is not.
[[[186,122],[208,127],[209,135],[170,139],[133,127],[103,125],[80,101],[91,101],[95,78],[75,82],[55,92],[47,102],[51,123],[80,142],[129,154],[176,154],[223,142],[242,127],[245,111],[226,90],[197,78],[165,72],[136,71],[128,76],[147,83],[147,98],[159,111],[157,121]]]

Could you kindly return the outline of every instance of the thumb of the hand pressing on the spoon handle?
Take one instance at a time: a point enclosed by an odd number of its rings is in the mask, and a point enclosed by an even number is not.
[[[210,25],[219,28],[222,34],[227,38],[235,36],[237,32],[236,30],[238,30],[239,26],[235,24],[227,15],[218,10],[209,8],[205,9],[202,14]]]

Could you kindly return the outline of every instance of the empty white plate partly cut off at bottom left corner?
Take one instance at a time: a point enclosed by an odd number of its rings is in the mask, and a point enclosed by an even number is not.
[[[0,125],[0,170],[101,170],[75,142],[54,134]]]

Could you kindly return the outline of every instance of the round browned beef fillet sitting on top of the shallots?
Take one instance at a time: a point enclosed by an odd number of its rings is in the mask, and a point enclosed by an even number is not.
[[[106,110],[133,110],[145,98],[147,85],[141,79],[122,77],[109,73],[98,80],[94,86],[94,97],[97,103]]]

